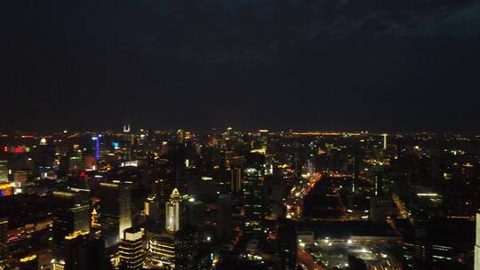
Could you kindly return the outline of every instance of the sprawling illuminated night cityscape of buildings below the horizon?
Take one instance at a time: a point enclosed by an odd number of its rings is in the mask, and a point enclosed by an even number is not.
[[[3,133],[0,269],[474,269],[479,146],[130,124]]]

